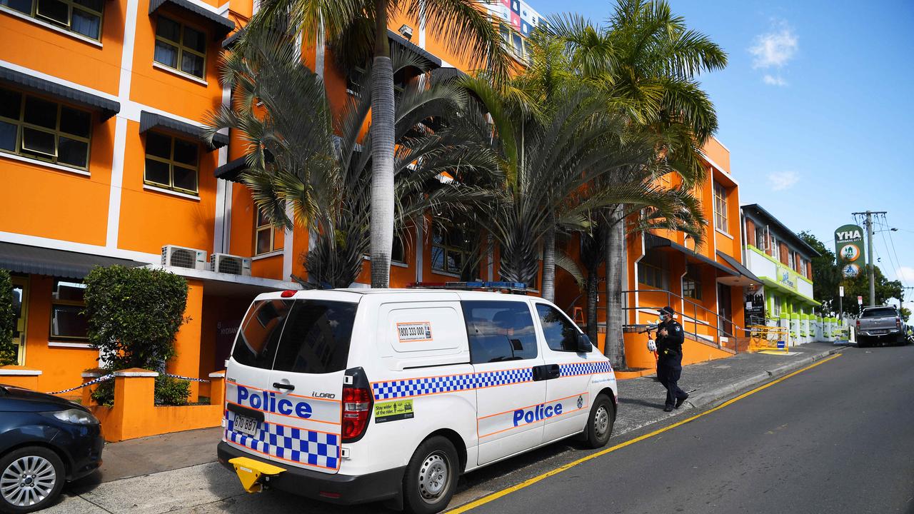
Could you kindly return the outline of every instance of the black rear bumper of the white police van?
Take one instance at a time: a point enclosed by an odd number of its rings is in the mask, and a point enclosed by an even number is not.
[[[280,466],[285,472],[271,477],[269,485],[294,495],[314,498],[337,505],[353,505],[387,499],[400,498],[403,473],[406,467],[378,471],[368,475],[331,475],[296,466],[286,466],[282,461],[270,461],[260,455],[253,455],[222,441],[218,445],[219,464],[232,473],[234,466],[228,463],[235,457],[248,457],[273,466]]]

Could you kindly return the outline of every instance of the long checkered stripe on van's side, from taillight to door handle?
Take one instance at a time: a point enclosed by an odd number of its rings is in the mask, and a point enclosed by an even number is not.
[[[446,377],[391,380],[371,384],[375,400],[409,398],[439,392],[471,391],[484,387],[509,385],[533,380],[533,369],[504,369],[484,373],[466,373]]]

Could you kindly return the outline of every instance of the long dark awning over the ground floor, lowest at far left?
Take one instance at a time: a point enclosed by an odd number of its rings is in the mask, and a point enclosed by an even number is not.
[[[16,273],[34,273],[63,278],[84,278],[95,266],[144,266],[145,262],[67,252],[40,246],[0,242],[0,268]]]

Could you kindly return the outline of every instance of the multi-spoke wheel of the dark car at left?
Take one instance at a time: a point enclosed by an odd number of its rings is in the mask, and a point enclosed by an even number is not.
[[[0,458],[0,511],[34,512],[54,503],[66,481],[57,454],[42,446],[26,446]]]

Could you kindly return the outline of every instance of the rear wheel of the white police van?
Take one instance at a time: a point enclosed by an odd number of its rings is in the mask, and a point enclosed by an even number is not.
[[[460,474],[457,450],[447,437],[436,435],[419,445],[403,477],[403,507],[412,514],[433,514],[447,508]]]

